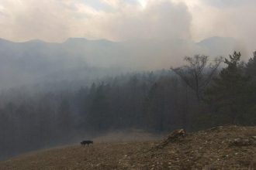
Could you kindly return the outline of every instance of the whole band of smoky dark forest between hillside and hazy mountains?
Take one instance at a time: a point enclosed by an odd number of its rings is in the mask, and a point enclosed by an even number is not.
[[[255,125],[256,52],[247,63],[240,57],[185,57],[178,68],[108,76],[77,90],[2,91],[0,159],[127,128]]]

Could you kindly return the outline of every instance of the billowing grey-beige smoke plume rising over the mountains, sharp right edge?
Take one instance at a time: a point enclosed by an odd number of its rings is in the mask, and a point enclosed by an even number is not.
[[[112,39],[189,39],[192,15],[183,3],[148,2],[144,9],[127,9],[105,23]]]

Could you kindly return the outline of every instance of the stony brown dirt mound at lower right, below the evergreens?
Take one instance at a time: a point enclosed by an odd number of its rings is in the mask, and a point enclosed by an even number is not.
[[[147,158],[152,169],[255,169],[255,134],[255,127],[220,126],[178,136]]]

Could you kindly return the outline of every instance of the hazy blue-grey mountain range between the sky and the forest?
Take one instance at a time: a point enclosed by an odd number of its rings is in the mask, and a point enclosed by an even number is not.
[[[87,80],[121,70],[168,69],[181,64],[184,56],[196,53],[227,56],[236,44],[235,39],[222,37],[201,42],[185,39],[112,42],[70,38],[57,43],[39,39],[27,42],[0,39],[0,88],[44,81]]]

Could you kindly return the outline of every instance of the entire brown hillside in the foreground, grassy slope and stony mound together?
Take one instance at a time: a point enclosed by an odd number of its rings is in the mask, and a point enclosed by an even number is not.
[[[256,127],[54,148],[0,162],[0,169],[256,169]]]

